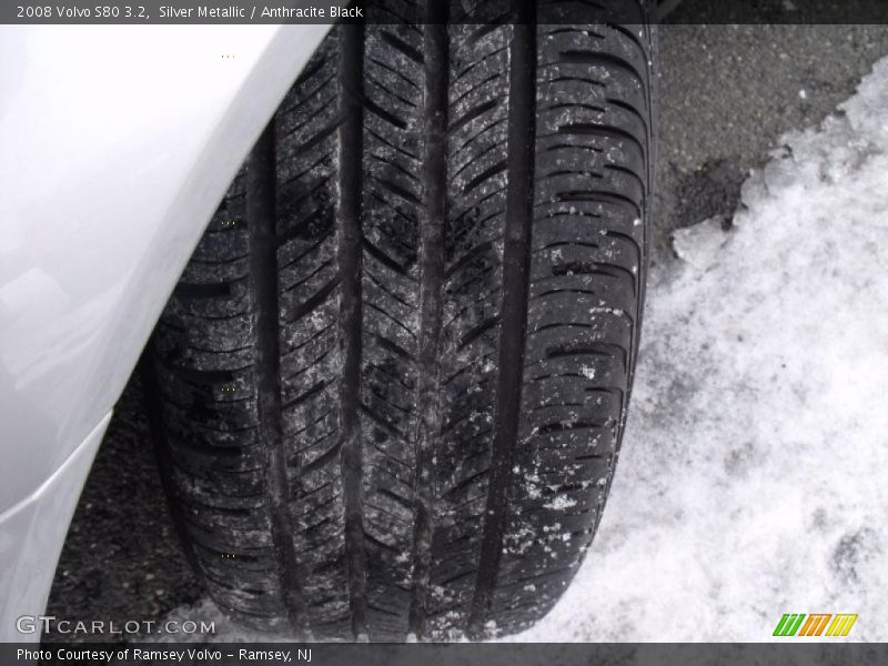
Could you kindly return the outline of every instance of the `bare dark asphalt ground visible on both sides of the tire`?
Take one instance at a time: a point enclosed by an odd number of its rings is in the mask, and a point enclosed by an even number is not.
[[[674,229],[729,216],[748,171],[767,161],[780,134],[833,112],[887,53],[888,26],[662,28],[654,261],[670,260]],[[201,596],[167,513],[134,380],[77,508],[48,615],[123,625],[157,620]]]

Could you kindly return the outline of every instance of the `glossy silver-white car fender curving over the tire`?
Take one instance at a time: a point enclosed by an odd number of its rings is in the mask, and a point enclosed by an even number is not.
[[[38,578],[20,606],[42,609],[107,417],[327,30],[0,28],[0,569]]]

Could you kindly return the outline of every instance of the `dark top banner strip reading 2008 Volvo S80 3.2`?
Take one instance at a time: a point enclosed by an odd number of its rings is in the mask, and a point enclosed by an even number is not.
[[[446,17],[446,18],[445,18]],[[3,0],[0,24],[885,23],[888,0]]]

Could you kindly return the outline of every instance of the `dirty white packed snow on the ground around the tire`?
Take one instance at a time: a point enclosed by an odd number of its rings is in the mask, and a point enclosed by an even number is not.
[[[783,144],[652,274],[601,529],[513,639],[761,642],[857,613],[845,640],[888,640],[888,59]],[[209,602],[174,616],[251,638]]]

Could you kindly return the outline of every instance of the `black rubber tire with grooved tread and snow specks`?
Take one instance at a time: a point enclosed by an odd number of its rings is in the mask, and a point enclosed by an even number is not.
[[[478,638],[564,592],[638,345],[639,23],[343,24],[306,65],[151,342],[172,511],[225,613]]]

